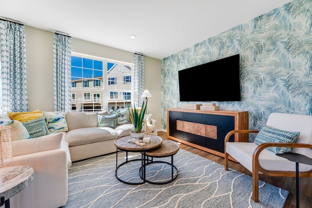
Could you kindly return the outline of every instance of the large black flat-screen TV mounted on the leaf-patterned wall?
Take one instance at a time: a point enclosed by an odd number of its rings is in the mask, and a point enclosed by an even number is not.
[[[178,71],[181,102],[240,101],[239,54]]]

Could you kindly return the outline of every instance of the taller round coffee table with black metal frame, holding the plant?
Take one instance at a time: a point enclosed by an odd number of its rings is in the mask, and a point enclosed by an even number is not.
[[[134,143],[129,143],[128,140],[132,138],[130,135],[117,138],[114,141],[114,144],[117,147],[115,176],[120,182],[129,184],[129,185],[140,185],[146,182],[145,180],[145,164],[146,164],[145,153],[148,150],[151,150],[160,146],[162,143],[162,139],[159,136],[149,135],[149,137],[151,137],[151,141],[149,143],[145,143],[145,146],[139,146]],[[118,149],[126,152],[126,161],[121,163],[120,165],[118,165]],[[141,159],[128,160],[128,152],[141,152],[142,153]],[[142,176],[141,177],[142,182],[138,182],[138,183],[127,182],[118,177],[118,174],[117,174],[118,168],[133,161],[141,161],[141,167],[143,167],[143,168],[140,168],[140,171],[141,171],[140,175]]]

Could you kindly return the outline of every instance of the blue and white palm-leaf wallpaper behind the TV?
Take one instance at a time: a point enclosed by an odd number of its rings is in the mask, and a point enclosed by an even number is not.
[[[240,54],[241,102],[211,102],[248,111],[250,129],[261,129],[272,112],[312,115],[312,0],[293,0],[163,59],[164,129],[167,108],[186,104],[179,102],[178,71],[235,54]]]

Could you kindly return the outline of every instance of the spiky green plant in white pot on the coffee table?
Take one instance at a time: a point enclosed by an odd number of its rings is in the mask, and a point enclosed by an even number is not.
[[[136,108],[135,104],[133,106],[133,108],[130,108],[130,106],[128,105],[130,119],[134,126],[134,130],[132,130],[130,134],[134,138],[142,138],[145,135],[145,130],[142,130],[142,127],[147,106],[147,100],[146,102],[143,101],[141,109]]]

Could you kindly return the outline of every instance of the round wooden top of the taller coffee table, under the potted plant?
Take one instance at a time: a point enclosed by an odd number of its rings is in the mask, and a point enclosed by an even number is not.
[[[159,136],[149,135],[151,137],[151,141],[149,143],[146,143],[145,146],[139,146],[134,143],[128,142],[129,139],[132,137],[130,135],[119,137],[114,141],[115,146],[120,150],[125,151],[145,151],[149,149],[156,148],[161,145],[162,138]]]

